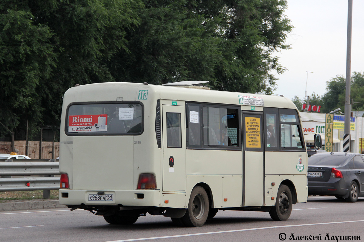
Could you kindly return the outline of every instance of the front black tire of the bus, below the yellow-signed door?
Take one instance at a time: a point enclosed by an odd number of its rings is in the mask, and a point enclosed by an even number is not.
[[[292,212],[292,192],[286,185],[278,189],[276,205],[269,210],[269,215],[274,221],[286,221]]]

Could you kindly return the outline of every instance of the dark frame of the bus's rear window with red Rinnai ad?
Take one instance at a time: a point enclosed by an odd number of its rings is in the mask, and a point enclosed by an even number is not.
[[[142,107],[142,130],[139,133],[126,133],[126,134],[97,134],[98,132],[82,132],[81,134],[78,132],[74,132],[74,133],[70,133],[68,132],[68,125],[67,125],[67,120],[68,120],[68,111],[70,109],[70,107],[72,105],[82,105],[82,104],[128,104],[128,103],[137,103],[140,104]],[[67,136],[138,136],[143,134],[144,132],[144,105],[142,102],[139,101],[114,101],[114,102],[72,102],[70,104],[68,104],[67,109],[66,109],[66,120],[64,122],[64,133]]]

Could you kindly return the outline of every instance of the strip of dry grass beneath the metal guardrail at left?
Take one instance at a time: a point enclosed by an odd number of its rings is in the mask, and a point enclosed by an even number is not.
[[[0,192],[0,202],[33,199],[43,199],[43,191]],[[50,199],[58,199],[58,190],[51,190]]]

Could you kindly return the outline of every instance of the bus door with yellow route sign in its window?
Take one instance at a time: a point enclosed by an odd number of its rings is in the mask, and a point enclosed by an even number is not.
[[[243,206],[264,205],[263,115],[242,111]]]

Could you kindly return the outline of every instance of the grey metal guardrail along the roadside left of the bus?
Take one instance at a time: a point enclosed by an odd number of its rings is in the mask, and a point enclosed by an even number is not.
[[[0,192],[43,190],[49,198],[50,190],[58,190],[59,162],[51,160],[0,160]],[[13,177],[17,176],[17,177]]]

